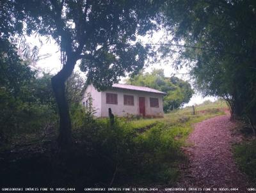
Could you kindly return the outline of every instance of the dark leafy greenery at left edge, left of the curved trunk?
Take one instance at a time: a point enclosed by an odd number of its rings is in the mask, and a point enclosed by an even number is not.
[[[54,112],[29,63],[22,61],[14,48],[0,54],[0,137],[4,143],[13,135],[42,129],[54,121]]]

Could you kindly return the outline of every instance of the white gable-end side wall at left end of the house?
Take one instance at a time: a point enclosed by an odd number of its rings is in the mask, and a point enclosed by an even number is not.
[[[86,100],[88,100],[88,93],[90,93],[92,96],[92,106],[96,111],[94,115],[97,117],[100,117],[101,116],[101,93],[97,91],[97,89],[95,89],[94,86],[92,86],[92,84],[90,84],[89,86],[87,86],[84,92],[82,104],[83,102],[84,104],[86,104]]]

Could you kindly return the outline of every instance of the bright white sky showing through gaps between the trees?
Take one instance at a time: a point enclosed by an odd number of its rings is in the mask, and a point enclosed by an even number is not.
[[[158,43],[159,41],[161,41],[161,38],[163,38],[163,31],[154,33],[152,36],[139,37],[139,38],[142,42],[145,42],[145,43]],[[31,46],[36,45],[39,49],[38,55],[42,56],[42,59],[37,61],[35,66],[36,66],[36,68],[40,68],[40,69],[44,70],[45,72],[50,72],[52,74],[56,74],[57,72],[59,72],[61,70],[60,50],[58,48],[58,45],[56,45],[53,40],[50,40],[47,42],[46,38],[44,38],[44,37],[40,37],[40,39],[42,40],[43,45],[40,44],[38,37],[37,38],[35,36],[27,37],[27,42],[29,42],[31,44]],[[44,57],[45,54],[48,54],[48,57]],[[189,72],[188,68],[182,68],[182,69],[176,71],[172,67],[172,59],[170,59],[170,63],[168,63],[168,64],[165,64],[164,62],[161,62],[161,61],[159,61],[158,63],[152,63],[145,68],[145,71],[151,72],[151,70],[153,68],[163,68],[164,75],[166,77],[171,77],[173,75],[173,73],[188,73]],[[75,71],[79,72],[78,65],[76,65]],[[176,76],[179,77],[180,79],[183,79],[184,81],[189,81],[189,83],[191,83],[191,81],[189,80],[189,76],[186,74],[185,75],[177,74]],[[122,83],[122,80],[124,80],[124,78],[125,77],[121,78],[120,83]],[[185,104],[184,106],[201,104],[205,100],[214,101],[214,100],[216,100],[216,98],[215,97],[202,97],[202,95],[200,95],[200,93],[196,93],[196,91],[195,91],[195,95],[193,95],[191,100],[189,101],[189,103]]]

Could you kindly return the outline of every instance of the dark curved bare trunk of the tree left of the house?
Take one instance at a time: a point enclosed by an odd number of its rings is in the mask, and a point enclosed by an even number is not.
[[[54,77],[52,77],[52,89],[58,105],[60,114],[60,130],[58,144],[61,150],[67,149],[72,144],[71,121],[68,109],[68,102],[65,96],[65,81],[72,74],[76,59],[67,58],[67,63]]]

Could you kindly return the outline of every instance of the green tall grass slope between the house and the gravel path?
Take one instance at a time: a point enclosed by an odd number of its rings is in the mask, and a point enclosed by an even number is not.
[[[180,162],[186,160],[181,147],[186,145],[193,125],[225,114],[219,104],[204,104],[196,109],[200,111],[195,115],[187,107],[165,114],[164,118],[116,118],[113,127],[108,119],[96,120],[93,130],[97,128],[97,134],[92,137],[92,144],[108,160],[117,184],[173,184],[179,177]]]

